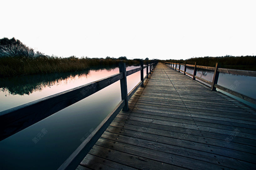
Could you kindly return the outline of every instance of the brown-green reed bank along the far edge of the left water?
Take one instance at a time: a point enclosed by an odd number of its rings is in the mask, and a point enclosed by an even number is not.
[[[99,59],[99,58],[58,58],[58,57],[4,57],[0,58],[0,77],[16,75],[45,74],[55,72],[71,72],[89,69],[92,66],[138,64],[137,60]]]

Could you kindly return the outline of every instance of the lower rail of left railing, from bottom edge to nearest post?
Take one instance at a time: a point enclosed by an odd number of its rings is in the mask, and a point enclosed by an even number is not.
[[[73,170],[87,155],[100,136],[108,128],[116,115],[124,107],[125,101],[122,100],[115,109],[97,126],[96,129],[79,145],[79,147],[68,157],[68,159],[58,168],[58,170]]]

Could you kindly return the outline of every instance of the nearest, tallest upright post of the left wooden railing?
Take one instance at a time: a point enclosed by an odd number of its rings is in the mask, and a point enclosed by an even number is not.
[[[125,100],[123,111],[128,111],[128,93],[127,93],[127,80],[126,80],[126,67],[125,63],[119,63],[119,72],[123,73],[123,79],[120,80],[121,98]]]

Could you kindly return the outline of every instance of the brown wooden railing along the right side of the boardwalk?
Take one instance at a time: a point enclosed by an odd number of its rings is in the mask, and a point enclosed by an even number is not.
[[[183,72],[184,75],[190,75],[192,76],[192,80],[201,80],[209,85],[211,85],[211,90],[212,91],[216,91],[216,88],[220,89],[220,90],[223,90],[231,95],[234,95],[236,97],[239,97],[243,100],[246,100],[250,103],[253,103],[253,104],[256,104],[256,99],[253,99],[249,96],[246,96],[246,95],[243,95],[241,93],[238,93],[236,91],[233,91],[231,89],[228,89],[226,87],[223,87],[221,85],[218,85],[218,77],[219,77],[219,73],[229,73],[229,74],[235,74],[235,75],[246,75],[246,76],[252,76],[252,77],[256,77],[256,71],[247,71],[247,70],[234,70],[234,69],[225,69],[225,68],[219,68],[218,67],[218,63],[216,63],[216,66],[215,67],[208,67],[208,66],[197,66],[196,65],[196,62],[194,65],[191,65],[191,64],[182,64],[182,63],[172,63],[172,62],[163,62],[163,64],[165,64],[166,66],[168,67],[171,67],[175,70],[178,70],[178,72]],[[178,68],[177,68],[177,65],[178,65]],[[183,65],[184,66],[184,70],[180,70],[180,66]],[[187,72],[187,67],[193,67],[194,68],[194,71],[193,71],[193,74],[190,74]],[[209,80],[205,80],[201,77],[198,77],[196,75],[197,73],[197,69],[200,68],[200,69],[204,69],[204,70],[212,70],[214,71],[214,74],[213,74],[213,80],[212,81],[209,81]]]

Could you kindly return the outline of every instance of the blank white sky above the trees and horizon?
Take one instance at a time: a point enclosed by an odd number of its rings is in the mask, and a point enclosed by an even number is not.
[[[256,54],[256,1],[0,2],[0,38],[46,55],[188,59]]]

